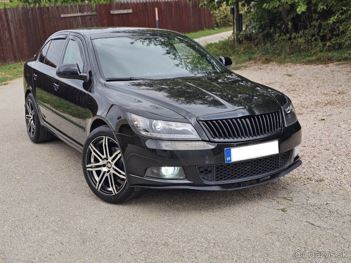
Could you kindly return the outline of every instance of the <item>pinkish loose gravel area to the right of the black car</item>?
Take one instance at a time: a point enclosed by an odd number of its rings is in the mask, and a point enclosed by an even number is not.
[[[292,100],[303,127],[303,165],[290,177],[351,190],[351,65],[259,65],[238,70]]]

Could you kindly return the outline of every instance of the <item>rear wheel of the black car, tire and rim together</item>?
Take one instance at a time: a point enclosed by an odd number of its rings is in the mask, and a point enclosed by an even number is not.
[[[35,104],[35,98],[32,93],[29,93],[26,97],[25,120],[27,133],[32,142],[48,142],[54,138],[54,135],[40,124],[37,104]]]

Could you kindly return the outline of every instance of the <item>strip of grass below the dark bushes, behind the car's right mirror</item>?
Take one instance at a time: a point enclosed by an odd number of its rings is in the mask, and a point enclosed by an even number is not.
[[[260,46],[254,46],[251,43],[236,45],[233,42],[233,38],[230,37],[218,43],[208,43],[205,48],[217,58],[221,55],[230,56],[234,64],[239,66],[248,62],[276,62],[278,64],[351,63],[351,50],[320,51],[299,49],[290,42],[270,43]]]

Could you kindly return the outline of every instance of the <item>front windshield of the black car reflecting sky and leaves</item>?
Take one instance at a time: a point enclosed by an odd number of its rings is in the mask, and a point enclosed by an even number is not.
[[[228,73],[196,42],[182,36],[93,39],[101,74],[106,79],[166,79]]]

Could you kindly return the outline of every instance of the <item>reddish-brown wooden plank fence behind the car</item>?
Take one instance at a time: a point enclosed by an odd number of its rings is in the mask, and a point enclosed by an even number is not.
[[[154,28],[155,7],[160,28],[188,33],[212,26],[210,11],[199,8],[199,0],[4,8],[0,9],[0,65],[31,58],[51,34],[64,29]]]

